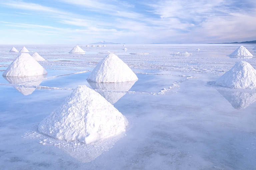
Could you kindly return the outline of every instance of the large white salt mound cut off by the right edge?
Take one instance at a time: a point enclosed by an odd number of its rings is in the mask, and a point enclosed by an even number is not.
[[[213,84],[234,89],[256,89],[256,70],[248,62],[240,61]]]

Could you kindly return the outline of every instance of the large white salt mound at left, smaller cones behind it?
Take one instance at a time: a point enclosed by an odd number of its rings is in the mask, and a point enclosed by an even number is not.
[[[25,77],[47,74],[47,71],[28,53],[21,53],[4,71],[3,76]]]

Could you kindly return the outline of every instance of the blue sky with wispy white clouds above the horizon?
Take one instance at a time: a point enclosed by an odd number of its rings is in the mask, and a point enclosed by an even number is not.
[[[256,40],[256,0],[0,0],[0,44]]]

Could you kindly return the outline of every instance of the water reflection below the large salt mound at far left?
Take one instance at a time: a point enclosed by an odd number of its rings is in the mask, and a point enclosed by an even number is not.
[[[4,78],[10,83],[10,84],[20,84],[25,86],[39,86],[40,83],[42,83],[43,79],[46,77],[47,74],[44,75],[38,75],[38,76],[27,76],[27,77],[5,77]],[[37,81],[38,80],[38,81]],[[27,82],[27,83],[24,83]],[[20,93],[27,96],[33,93],[36,88],[27,88],[27,87],[15,87]]]

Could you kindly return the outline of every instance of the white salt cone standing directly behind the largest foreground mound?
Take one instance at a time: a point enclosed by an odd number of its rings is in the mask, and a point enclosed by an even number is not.
[[[138,80],[134,72],[118,56],[108,54],[92,70],[88,81],[101,83],[116,83]]]

